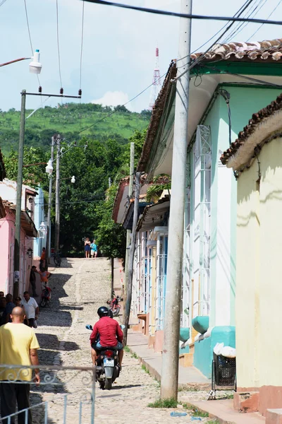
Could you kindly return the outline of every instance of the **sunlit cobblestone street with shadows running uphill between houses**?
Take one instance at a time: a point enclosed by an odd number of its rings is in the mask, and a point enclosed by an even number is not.
[[[53,273],[53,271],[52,271]],[[97,321],[97,309],[105,305],[110,295],[110,264],[106,259],[63,259],[61,268],[54,271],[49,285],[52,289],[51,307],[40,310],[39,326],[35,330],[40,344],[42,365],[91,366],[90,331],[85,324]],[[49,401],[49,423],[63,422],[61,394],[71,393],[67,407],[67,423],[76,423],[79,401],[90,391],[82,375],[68,379],[62,373],[63,389],[50,384],[46,390],[32,390],[32,404]],[[69,380],[69,381],[68,381]],[[187,401],[185,392],[180,399]],[[203,393],[190,396],[202,399]],[[89,395],[88,395],[89,396]],[[159,383],[142,369],[137,359],[125,353],[121,377],[111,391],[96,387],[95,423],[178,423],[190,416],[172,418],[171,410],[148,408],[149,402],[159,398]],[[82,409],[82,423],[90,423],[90,405]],[[34,422],[42,422],[43,411],[33,413]],[[202,418],[204,421],[204,418]]]

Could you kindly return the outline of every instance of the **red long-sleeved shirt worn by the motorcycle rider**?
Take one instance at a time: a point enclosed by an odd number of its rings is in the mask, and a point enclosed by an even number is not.
[[[116,346],[118,341],[123,341],[123,331],[121,331],[121,327],[118,325],[116,319],[112,319],[110,317],[102,317],[99,321],[94,325],[94,329],[90,336],[90,343],[94,343],[97,338],[97,335],[100,335],[100,343],[101,346]]]

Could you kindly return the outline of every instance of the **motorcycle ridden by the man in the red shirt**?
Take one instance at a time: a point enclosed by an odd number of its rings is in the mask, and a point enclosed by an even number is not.
[[[85,328],[90,331],[93,330],[90,324],[87,324]],[[99,351],[96,360],[96,380],[99,382],[100,388],[111,390],[119,373],[118,351],[113,347],[103,348]]]

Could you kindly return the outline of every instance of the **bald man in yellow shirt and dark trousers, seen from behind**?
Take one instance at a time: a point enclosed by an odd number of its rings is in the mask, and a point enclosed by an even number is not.
[[[0,364],[5,365],[39,365],[37,349],[39,344],[35,332],[23,324],[25,314],[23,308],[14,307],[11,313],[12,322],[0,327]],[[13,383],[17,381],[17,383]],[[23,383],[18,383],[22,381]],[[0,399],[2,423],[8,423],[3,417],[30,407],[30,382],[32,371],[20,370],[19,367],[6,369],[0,366]],[[39,369],[35,369],[34,381],[39,384]],[[11,424],[15,417],[11,417]],[[25,413],[18,414],[18,424],[25,424]],[[28,424],[32,424],[32,416],[28,411]]]

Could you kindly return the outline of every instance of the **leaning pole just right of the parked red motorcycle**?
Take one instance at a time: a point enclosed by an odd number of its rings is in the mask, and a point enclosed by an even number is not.
[[[125,313],[124,313],[125,314],[125,319],[124,319],[125,329],[123,331],[123,342],[125,346],[128,341],[128,324],[129,324],[131,298],[132,298],[133,264],[134,264],[135,245],[136,245],[136,227],[137,227],[137,222],[139,217],[140,177],[141,177],[141,172],[136,172],[133,232],[131,237],[130,252],[129,252],[129,259],[128,259],[128,290],[127,290],[127,296],[126,296],[126,302],[125,302]]]

